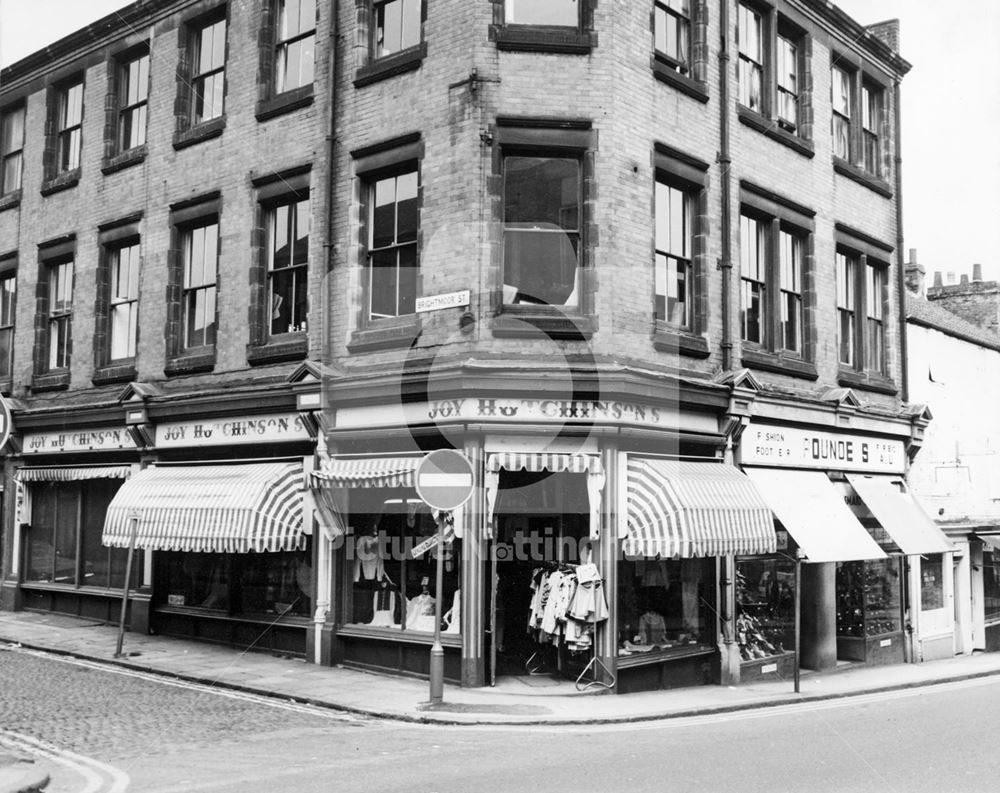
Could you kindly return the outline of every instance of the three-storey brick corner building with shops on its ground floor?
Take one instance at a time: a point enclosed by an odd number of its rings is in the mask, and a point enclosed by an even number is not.
[[[737,681],[789,672],[798,639],[809,666],[903,660],[919,587],[907,560],[945,545],[889,519],[909,504],[896,483],[927,418],[905,401],[896,26],[865,29],[817,0],[357,0],[317,4],[315,28],[303,14],[282,24],[293,6],[138,3],[125,14],[142,24],[97,23],[3,74],[0,111],[28,110],[23,186],[0,212],[21,293],[72,254],[73,347],[90,339],[80,324],[110,337],[101,246],[138,235],[140,311],[156,295],[134,372],[96,347],[94,367],[79,354],[28,366],[18,329],[44,336],[62,316],[44,288],[13,325],[19,435],[72,416],[140,438],[108,453],[57,445],[39,463],[65,458],[77,477],[84,463],[159,463],[122,486],[105,540],[124,544],[139,496],[170,491],[180,469],[166,462],[207,460],[214,476],[220,457],[250,465],[249,448],[300,470],[315,457],[316,531],[306,516],[274,551],[311,554],[276,560],[300,594],[262,598],[311,660],[426,674],[442,626],[445,674],[464,685],[526,669],[618,691]],[[188,20],[217,18],[202,13],[227,21],[224,129],[186,127],[183,86],[213,63],[191,54]],[[133,28],[152,31],[141,158],[105,133],[138,104],[115,105],[108,79],[139,52]],[[272,75],[307,49],[301,35],[315,41],[311,89],[280,91]],[[74,181],[42,173],[75,129],[56,110],[46,127],[45,108],[80,73],[85,108],[110,98],[107,120],[83,114]],[[276,334],[271,208],[301,204],[307,186],[308,330]],[[121,190],[141,206],[123,210]],[[212,355],[187,349],[170,310],[170,251],[206,215],[221,239]],[[94,385],[106,369],[116,387]],[[276,419],[324,410],[295,438],[204,442],[202,413],[231,438],[226,420],[256,422],[262,404]],[[18,478],[35,462],[21,443],[8,492],[46,475]],[[437,448],[475,470],[450,516],[414,489]],[[439,525],[441,559],[425,550]],[[70,589],[26,580],[31,532],[8,529],[15,605]],[[239,626],[259,625],[233,603],[256,557],[185,542],[140,537],[149,623],[247,643]],[[224,609],[212,574],[192,572],[195,550],[228,553]],[[181,591],[185,576],[204,600]],[[560,593],[558,614],[543,591]],[[309,608],[286,613],[292,602]]]

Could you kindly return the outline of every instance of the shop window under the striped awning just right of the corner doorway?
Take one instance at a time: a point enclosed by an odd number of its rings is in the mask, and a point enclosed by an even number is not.
[[[714,559],[619,562],[618,654],[711,644],[714,588]]]

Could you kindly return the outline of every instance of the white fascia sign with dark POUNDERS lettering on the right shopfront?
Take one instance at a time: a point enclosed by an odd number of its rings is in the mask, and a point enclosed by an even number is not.
[[[740,454],[744,465],[827,471],[901,473],[906,460],[902,441],[752,422],[740,438]]]

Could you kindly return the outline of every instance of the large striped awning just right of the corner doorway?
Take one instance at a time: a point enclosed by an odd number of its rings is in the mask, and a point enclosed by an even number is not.
[[[622,527],[628,556],[687,558],[773,553],[774,518],[730,465],[629,457]]]

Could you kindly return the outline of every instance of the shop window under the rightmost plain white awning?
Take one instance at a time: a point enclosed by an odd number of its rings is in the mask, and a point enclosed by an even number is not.
[[[837,563],[837,635],[879,636],[900,630],[897,557]]]

